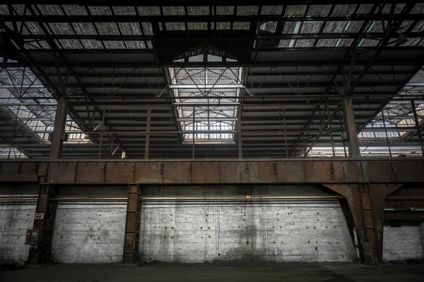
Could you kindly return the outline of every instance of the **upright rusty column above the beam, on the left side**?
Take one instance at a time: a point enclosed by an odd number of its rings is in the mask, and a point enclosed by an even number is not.
[[[68,100],[61,96],[57,101],[56,116],[54,116],[54,130],[52,133],[52,145],[50,147],[49,159],[59,159],[64,143],[64,131],[66,114],[68,110]]]

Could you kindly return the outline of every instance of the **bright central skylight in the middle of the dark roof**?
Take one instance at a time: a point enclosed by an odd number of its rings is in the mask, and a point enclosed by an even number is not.
[[[212,54],[206,58],[223,61],[223,57]],[[203,60],[204,54],[189,57],[192,62]],[[170,68],[169,72],[170,90],[178,98],[173,101],[177,104],[177,120],[184,131],[184,142],[233,143],[243,88],[242,68]]]

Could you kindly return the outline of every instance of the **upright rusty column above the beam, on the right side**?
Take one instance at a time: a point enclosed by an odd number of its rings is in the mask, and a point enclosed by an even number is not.
[[[345,119],[346,131],[348,133],[349,157],[360,158],[358,133],[356,133],[355,114],[353,113],[352,97],[341,99]]]

